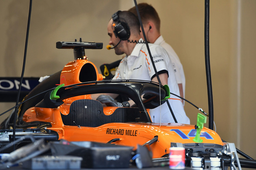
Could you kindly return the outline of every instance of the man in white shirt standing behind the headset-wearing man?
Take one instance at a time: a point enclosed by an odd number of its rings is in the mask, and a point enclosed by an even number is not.
[[[155,8],[147,3],[138,4],[138,8],[147,40],[151,43],[162,46],[168,52],[169,57],[172,60],[174,73],[179,86],[180,97],[185,98],[185,74],[183,67],[178,55],[175,53],[173,48],[164,41],[163,36],[160,34],[160,18]],[[134,15],[138,17],[135,6],[128,11],[134,13]],[[140,36],[144,40],[142,32],[140,32]],[[183,105],[184,103],[185,101],[183,101]]]

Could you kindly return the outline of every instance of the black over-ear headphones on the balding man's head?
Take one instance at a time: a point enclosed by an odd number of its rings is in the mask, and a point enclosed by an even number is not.
[[[120,38],[120,40],[128,40],[131,35],[130,28],[126,22],[119,20],[119,16],[118,16],[119,12],[120,11],[117,11],[116,13],[114,13],[112,15],[113,21],[117,21],[116,24],[113,24],[113,26],[114,26],[113,32],[116,37]]]

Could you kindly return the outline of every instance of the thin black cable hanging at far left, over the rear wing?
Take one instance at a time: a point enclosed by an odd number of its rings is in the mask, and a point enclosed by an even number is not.
[[[26,43],[25,43],[25,51],[24,51],[24,58],[23,58],[23,66],[22,66],[22,71],[21,71],[20,85],[19,85],[19,90],[18,90],[18,94],[17,94],[16,106],[17,106],[18,103],[19,103],[21,85],[22,85],[23,75],[24,75],[24,71],[25,71],[26,55],[27,55],[27,48],[28,48],[28,32],[29,32],[29,25],[30,25],[30,18],[31,18],[31,8],[32,8],[32,0],[30,0],[30,2],[29,2],[28,26],[27,26],[27,34],[26,34]],[[15,111],[14,111],[14,120],[13,120],[13,142],[15,141],[15,129],[16,129],[16,115],[17,115],[17,109],[18,109],[18,108],[15,107]],[[13,151],[15,151],[15,144],[13,145]]]

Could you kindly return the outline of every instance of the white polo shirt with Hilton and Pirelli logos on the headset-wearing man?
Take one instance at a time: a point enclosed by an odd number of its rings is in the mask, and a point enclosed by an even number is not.
[[[140,39],[140,41],[143,40]],[[168,74],[170,92],[180,95],[172,61],[168,53],[159,45],[150,43],[148,45],[157,72],[159,74],[166,72]],[[147,46],[144,43],[138,43],[133,48],[131,55],[125,56],[121,60],[113,80],[135,79],[151,81],[154,76],[155,70],[149,57]],[[178,123],[189,124],[190,121],[185,114],[181,100],[178,97],[171,95],[168,101]],[[174,122],[167,103],[154,109],[150,109],[149,114],[152,122]]]

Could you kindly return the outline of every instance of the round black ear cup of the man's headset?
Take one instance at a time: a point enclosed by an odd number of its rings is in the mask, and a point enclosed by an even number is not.
[[[131,35],[130,28],[125,22],[118,22],[115,26],[114,34],[120,40],[128,40]]]

